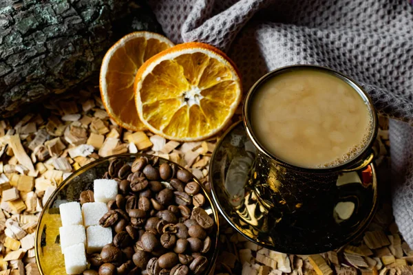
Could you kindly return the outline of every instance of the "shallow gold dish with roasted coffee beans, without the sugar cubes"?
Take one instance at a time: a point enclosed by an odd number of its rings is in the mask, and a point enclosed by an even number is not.
[[[65,274],[59,204],[93,201],[94,179],[115,179],[116,199],[100,225],[113,241],[88,254],[84,274],[209,274],[218,255],[218,212],[189,171],[167,159],[125,154],[98,159],[68,177],[43,209],[36,233],[41,274]]]

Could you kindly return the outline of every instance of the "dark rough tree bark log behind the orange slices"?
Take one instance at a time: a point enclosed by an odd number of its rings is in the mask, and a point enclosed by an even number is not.
[[[134,30],[161,30],[140,1],[0,0],[0,117],[75,89]]]

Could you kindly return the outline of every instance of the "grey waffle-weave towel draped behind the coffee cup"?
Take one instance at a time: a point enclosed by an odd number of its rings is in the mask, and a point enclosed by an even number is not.
[[[266,72],[299,63],[336,69],[363,85],[380,113],[398,119],[390,122],[390,184],[396,223],[413,247],[413,8],[408,0],[150,4],[173,42],[200,41],[229,54],[245,91]]]

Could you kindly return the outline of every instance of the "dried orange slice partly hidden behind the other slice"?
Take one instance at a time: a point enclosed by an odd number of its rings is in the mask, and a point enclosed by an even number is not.
[[[165,36],[132,32],[123,36],[105,54],[100,67],[100,95],[109,116],[120,126],[142,130],[134,99],[134,80],[139,67],[151,56],[172,47]]]

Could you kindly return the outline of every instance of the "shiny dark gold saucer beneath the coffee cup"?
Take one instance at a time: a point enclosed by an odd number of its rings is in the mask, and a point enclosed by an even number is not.
[[[294,190],[314,197],[295,205],[261,199],[254,188],[255,147],[244,125],[235,123],[215,147],[210,164],[213,200],[233,228],[247,239],[278,252],[318,254],[341,247],[366,229],[377,208],[374,164],[341,173],[335,186],[308,184]]]

